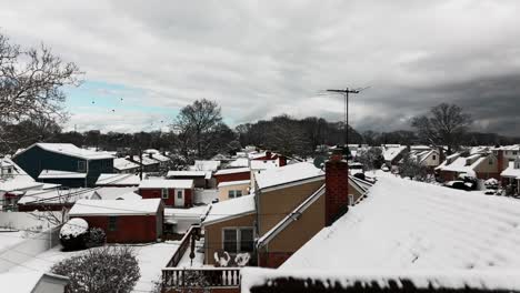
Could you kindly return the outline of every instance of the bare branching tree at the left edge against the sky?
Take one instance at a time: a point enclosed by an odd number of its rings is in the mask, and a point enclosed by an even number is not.
[[[0,152],[9,152],[18,137],[3,129],[23,120],[66,119],[63,85],[79,85],[81,72],[41,44],[22,50],[0,33]]]

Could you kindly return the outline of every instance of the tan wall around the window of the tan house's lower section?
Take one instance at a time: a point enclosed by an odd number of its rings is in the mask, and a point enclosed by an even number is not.
[[[224,228],[252,228],[254,224],[254,214],[242,215],[239,218],[230,219],[228,221],[222,221],[213,223],[210,225],[204,225],[204,241],[206,241],[206,251],[204,251],[204,264],[214,265],[214,253],[221,251],[223,247],[222,243],[222,229]]]

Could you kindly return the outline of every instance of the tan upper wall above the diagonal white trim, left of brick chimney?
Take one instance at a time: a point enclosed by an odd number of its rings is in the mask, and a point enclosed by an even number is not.
[[[271,230],[271,228],[302,203],[304,199],[312,195],[323,183],[324,179],[270,192],[260,191],[258,208],[259,236]]]

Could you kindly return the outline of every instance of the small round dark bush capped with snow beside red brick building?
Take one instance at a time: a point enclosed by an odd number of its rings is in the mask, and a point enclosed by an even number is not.
[[[89,239],[89,223],[80,218],[69,220],[60,230],[60,242],[64,250],[81,250]]]

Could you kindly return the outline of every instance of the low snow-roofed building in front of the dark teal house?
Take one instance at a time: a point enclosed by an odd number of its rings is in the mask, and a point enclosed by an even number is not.
[[[99,199],[94,191],[94,189],[29,190],[18,200],[17,209],[20,212],[69,210],[78,200]]]

